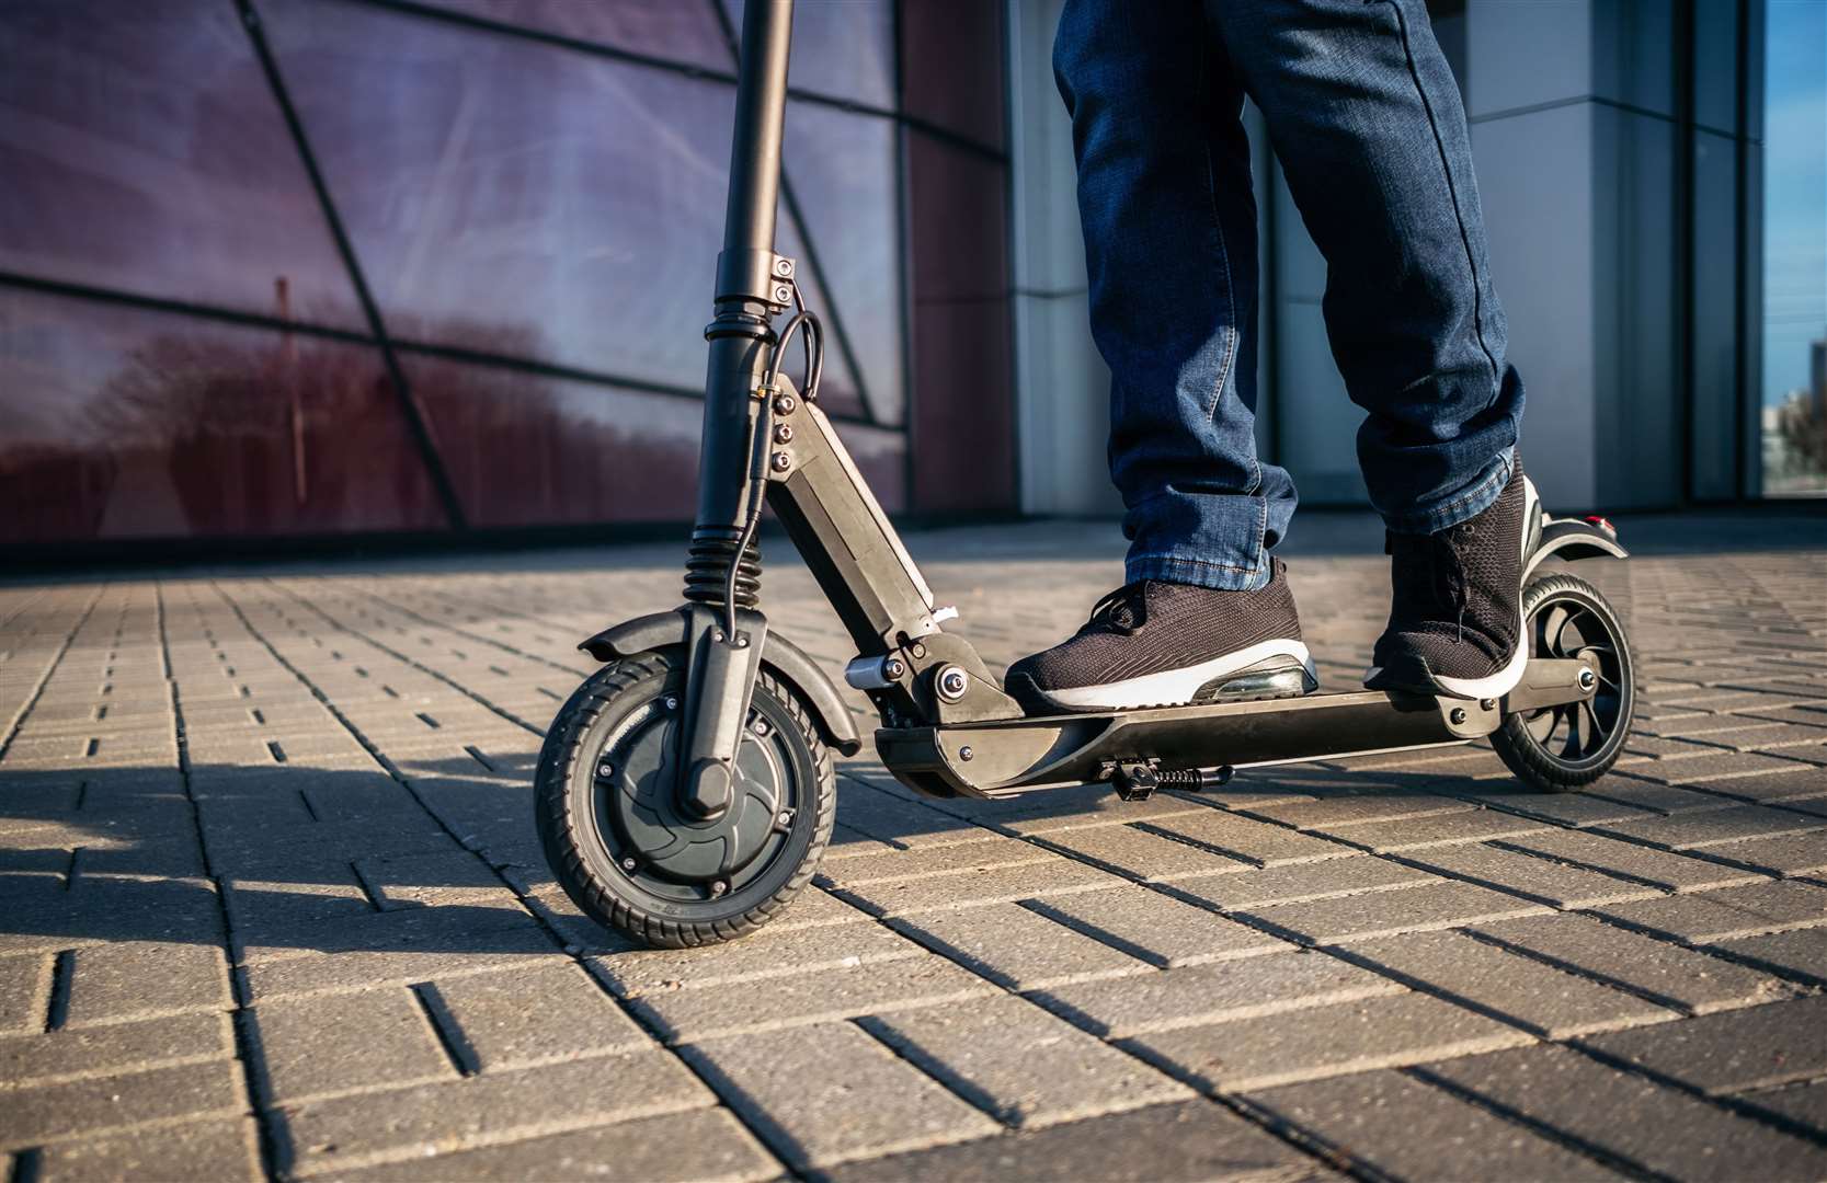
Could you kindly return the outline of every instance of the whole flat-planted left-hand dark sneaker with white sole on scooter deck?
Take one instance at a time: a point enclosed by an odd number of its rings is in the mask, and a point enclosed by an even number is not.
[[[1288,697],[1319,685],[1286,564],[1259,592],[1144,579],[1111,592],[1071,639],[1009,666],[1029,714]]]

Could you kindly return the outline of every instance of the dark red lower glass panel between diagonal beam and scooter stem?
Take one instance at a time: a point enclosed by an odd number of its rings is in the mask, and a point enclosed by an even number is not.
[[[471,526],[689,520],[703,403],[404,354]]]

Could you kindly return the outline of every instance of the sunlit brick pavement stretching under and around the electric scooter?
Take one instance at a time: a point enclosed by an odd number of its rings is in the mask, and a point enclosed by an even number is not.
[[[1639,732],[1589,792],[1487,749],[1206,796],[923,801],[840,769],[817,889],[630,949],[528,769],[678,548],[0,586],[0,1159],[58,1178],[1827,1176],[1827,518],[1584,564]],[[1304,539],[1304,540],[1303,540]],[[1345,542],[1348,540],[1348,542]],[[992,663],[1111,528],[914,537]],[[1345,544],[1341,544],[1345,542]],[[1361,518],[1292,577],[1332,686]],[[1304,553],[1303,553],[1304,550]],[[850,657],[771,544],[775,626]]]

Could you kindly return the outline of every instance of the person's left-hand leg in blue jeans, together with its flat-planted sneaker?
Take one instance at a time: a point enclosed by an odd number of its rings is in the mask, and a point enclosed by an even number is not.
[[[1127,584],[1009,668],[1036,714],[1304,694],[1294,484],[1255,455],[1255,203],[1242,91],[1199,0],[1067,0],[1091,330],[1111,367]]]

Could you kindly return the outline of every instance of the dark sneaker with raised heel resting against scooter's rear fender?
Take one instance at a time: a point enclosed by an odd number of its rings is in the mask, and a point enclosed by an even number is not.
[[[1432,535],[1387,535],[1394,597],[1378,637],[1370,690],[1502,697],[1522,681],[1522,564],[1542,513],[1522,456],[1478,517]]]

